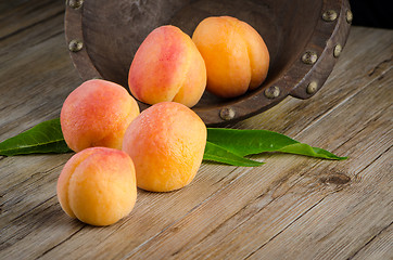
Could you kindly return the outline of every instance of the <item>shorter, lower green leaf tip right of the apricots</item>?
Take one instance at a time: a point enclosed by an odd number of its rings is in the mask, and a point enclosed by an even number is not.
[[[224,162],[227,165],[233,166],[245,166],[245,167],[254,167],[261,166],[264,162],[251,160],[248,158],[243,158],[242,156],[238,156],[224,147],[218,146],[217,144],[206,142],[205,153],[203,155],[204,160],[213,160],[217,162]]]

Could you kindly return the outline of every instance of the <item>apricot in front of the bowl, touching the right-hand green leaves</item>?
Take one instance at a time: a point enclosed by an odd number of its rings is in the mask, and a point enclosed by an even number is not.
[[[123,151],[132,158],[138,187],[169,192],[193,180],[205,145],[202,119],[182,104],[163,102],[143,110],[129,125]]]

